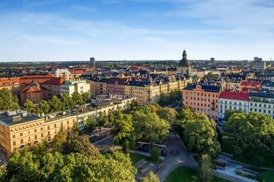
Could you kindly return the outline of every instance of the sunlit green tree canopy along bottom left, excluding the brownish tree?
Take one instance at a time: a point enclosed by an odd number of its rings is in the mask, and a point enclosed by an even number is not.
[[[6,172],[5,172],[6,171]],[[14,153],[8,159],[1,177],[4,181],[135,181],[136,169],[129,155],[115,152],[86,156],[80,153],[62,155],[46,153],[36,157],[32,152]]]

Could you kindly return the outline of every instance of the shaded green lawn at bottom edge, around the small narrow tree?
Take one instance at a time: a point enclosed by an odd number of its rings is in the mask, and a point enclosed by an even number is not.
[[[164,182],[196,182],[197,170],[188,167],[178,167],[169,174]],[[210,182],[230,182],[219,177],[212,177]]]

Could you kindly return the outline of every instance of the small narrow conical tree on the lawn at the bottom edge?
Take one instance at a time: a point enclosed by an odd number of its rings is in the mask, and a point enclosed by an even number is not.
[[[201,155],[199,162],[198,180],[201,182],[208,182],[212,176],[212,162],[210,156],[207,154]]]

